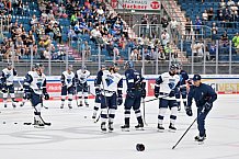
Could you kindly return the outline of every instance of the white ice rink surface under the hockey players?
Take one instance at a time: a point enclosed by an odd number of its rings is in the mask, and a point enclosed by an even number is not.
[[[122,132],[123,106],[116,113],[114,133],[102,134],[100,122],[91,120],[93,100],[90,107],[73,110],[59,109],[59,101],[45,102],[48,110],[42,115],[52,126],[34,128],[23,125],[33,121],[30,103],[13,110],[0,106],[0,159],[239,159],[239,100],[238,95],[219,95],[206,121],[207,139],[204,145],[194,141],[196,123],[178,147],[178,141],[195,118],[185,112],[179,113],[177,133],[168,132],[169,112],[164,120],[164,133],[157,132],[158,102],[146,104],[145,130],[135,130],[135,115],[132,113],[130,132]],[[147,99],[148,100],[148,99]],[[3,124],[5,122],[5,124]],[[18,123],[18,124],[14,124]],[[136,144],[146,150],[136,150]]]

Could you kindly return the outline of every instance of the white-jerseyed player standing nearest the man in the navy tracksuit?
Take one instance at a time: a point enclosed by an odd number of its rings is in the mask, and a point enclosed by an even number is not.
[[[168,107],[171,110],[169,130],[175,132],[174,126],[178,115],[178,103],[175,93],[179,91],[180,77],[177,75],[177,66],[171,65],[168,72],[162,73],[156,79],[155,96],[159,98],[158,130],[163,132],[162,126],[164,114]]]

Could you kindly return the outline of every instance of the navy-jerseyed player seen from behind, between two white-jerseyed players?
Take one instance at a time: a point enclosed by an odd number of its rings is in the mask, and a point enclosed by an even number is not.
[[[144,123],[140,112],[141,98],[146,96],[146,82],[144,77],[134,69],[133,61],[125,63],[125,77],[127,83],[127,94],[124,103],[125,109],[125,125],[121,128],[122,130],[129,130],[129,118],[130,110],[133,109],[138,121],[138,125],[135,126],[136,129],[143,129]]]

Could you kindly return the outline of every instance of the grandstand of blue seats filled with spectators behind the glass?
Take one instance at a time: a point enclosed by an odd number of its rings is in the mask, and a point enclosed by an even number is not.
[[[102,0],[2,0],[1,64],[41,60],[64,69],[83,61],[95,69],[99,63],[130,59],[145,73],[169,63],[182,63],[192,72],[218,66],[213,73],[227,65],[221,73],[231,73],[239,60],[239,3],[229,1],[161,0],[158,10],[137,11],[123,8],[121,0],[116,8]]]

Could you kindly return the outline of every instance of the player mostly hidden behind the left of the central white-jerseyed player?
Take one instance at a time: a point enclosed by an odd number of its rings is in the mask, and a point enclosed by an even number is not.
[[[102,75],[102,72],[105,70],[105,66],[102,65],[101,66],[101,69],[98,71],[98,76],[96,77],[100,77],[100,75]],[[93,109],[93,115],[92,115],[92,118],[95,118],[96,117],[96,114],[98,114],[98,110],[99,107],[101,106],[101,86],[99,86],[96,83],[98,79],[95,78],[94,80],[94,89],[95,89],[95,98],[94,98],[94,109]]]

